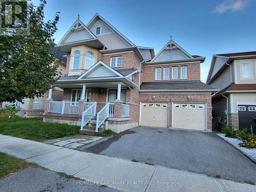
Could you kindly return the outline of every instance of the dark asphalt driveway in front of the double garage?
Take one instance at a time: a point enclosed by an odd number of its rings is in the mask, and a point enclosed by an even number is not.
[[[84,151],[256,183],[256,165],[212,133],[142,126]]]

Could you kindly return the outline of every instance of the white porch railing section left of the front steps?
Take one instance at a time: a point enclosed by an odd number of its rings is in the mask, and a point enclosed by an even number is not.
[[[78,102],[50,101],[49,113],[78,114]]]

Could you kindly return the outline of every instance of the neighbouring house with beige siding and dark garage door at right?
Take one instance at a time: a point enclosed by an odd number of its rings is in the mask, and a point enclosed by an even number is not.
[[[206,82],[220,90],[212,95],[212,116],[249,131],[256,110],[256,51],[214,55]]]

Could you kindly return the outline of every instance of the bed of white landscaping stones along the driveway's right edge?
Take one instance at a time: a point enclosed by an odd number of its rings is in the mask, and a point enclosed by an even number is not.
[[[233,144],[234,146],[239,148],[239,150],[243,151],[244,153],[246,153],[247,155],[252,157],[254,159],[254,161],[256,161],[256,148],[242,147],[242,146],[239,146],[239,144],[242,143],[242,140],[239,140],[239,139],[236,139],[236,138],[225,137],[225,134],[222,134],[222,133],[217,134],[217,135],[219,135],[221,138],[223,138],[228,143]]]

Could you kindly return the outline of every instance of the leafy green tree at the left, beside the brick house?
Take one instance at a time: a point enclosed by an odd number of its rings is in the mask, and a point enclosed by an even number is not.
[[[29,35],[0,35],[0,101],[39,97],[60,77],[58,65],[52,65],[58,12],[44,22],[46,1],[29,5]]]

